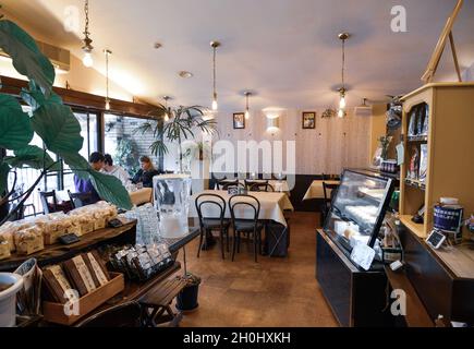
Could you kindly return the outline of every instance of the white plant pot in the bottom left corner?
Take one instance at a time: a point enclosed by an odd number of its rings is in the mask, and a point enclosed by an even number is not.
[[[0,292],[0,327],[13,327],[16,324],[16,293],[23,286],[23,277],[0,273],[0,285],[11,285]]]

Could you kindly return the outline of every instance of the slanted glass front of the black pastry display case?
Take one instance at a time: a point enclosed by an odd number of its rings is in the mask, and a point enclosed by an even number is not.
[[[392,193],[390,178],[345,170],[324,230],[342,244],[345,252],[360,242],[374,248]]]

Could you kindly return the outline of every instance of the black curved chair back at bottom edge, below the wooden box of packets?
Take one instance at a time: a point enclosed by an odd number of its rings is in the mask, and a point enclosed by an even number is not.
[[[127,302],[101,311],[76,327],[142,327],[142,306]]]

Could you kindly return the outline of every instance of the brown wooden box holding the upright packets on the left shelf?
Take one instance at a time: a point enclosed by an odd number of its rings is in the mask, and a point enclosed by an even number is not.
[[[82,297],[77,304],[69,306],[68,304],[53,303],[44,301],[42,313],[44,320],[50,323],[60,325],[72,325],[92,311],[107,302],[113,296],[120,293],[125,288],[125,279],[123,274],[110,273],[111,280],[106,285],[97,288],[96,290]],[[72,311],[75,308],[76,313]],[[64,310],[70,311],[71,314],[65,314]]]

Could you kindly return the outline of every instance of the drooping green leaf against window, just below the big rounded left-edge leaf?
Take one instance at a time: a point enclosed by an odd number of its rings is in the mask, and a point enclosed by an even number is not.
[[[48,168],[51,171],[59,171],[59,164],[40,147],[28,145],[20,151],[15,151],[15,156],[5,158],[5,163],[11,167],[21,168],[24,166],[33,167],[38,170]]]

